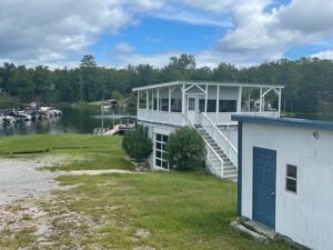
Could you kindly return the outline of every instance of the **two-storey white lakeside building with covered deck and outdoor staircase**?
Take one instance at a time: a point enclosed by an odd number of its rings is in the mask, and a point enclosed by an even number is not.
[[[153,169],[169,169],[164,143],[176,128],[191,126],[203,137],[206,166],[221,178],[238,174],[238,124],[231,114],[280,117],[282,86],[173,81],[134,88],[138,121],[149,128]],[[255,106],[254,103],[258,103]]]

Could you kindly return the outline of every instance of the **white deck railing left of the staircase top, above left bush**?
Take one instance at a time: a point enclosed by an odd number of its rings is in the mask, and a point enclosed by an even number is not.
[[[138,120],[158,122],[173,126],[185,126],[184,116],[181,112],[168,112],[160,110],[138,110]]]

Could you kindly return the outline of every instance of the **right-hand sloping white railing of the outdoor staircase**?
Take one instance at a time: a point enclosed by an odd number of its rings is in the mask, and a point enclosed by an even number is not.
[[[210,137],[223,150],[230,161],[238,168],[238,149],[205,113],[202,113],[202,128],[210,134]]]

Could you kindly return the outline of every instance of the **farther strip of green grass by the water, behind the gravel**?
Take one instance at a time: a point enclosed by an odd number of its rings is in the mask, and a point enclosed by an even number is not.
[[[32,134],[4,137],[0,140],[0,154],[11,157],[40,157],[36,152],[48,154],[69,154],[63,166],[50,170],[84,169],[125,169],[133,166],[124,159],[121,137],[93,137],[91,134]]]

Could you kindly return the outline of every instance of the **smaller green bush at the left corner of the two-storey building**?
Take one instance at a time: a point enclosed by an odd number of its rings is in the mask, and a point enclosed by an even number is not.
[[[141,161],[152,152],[152,142],[148,137],[148,128],[137,126],[132,131],[128,131],[122,140],[122,148],[131,158]]]

